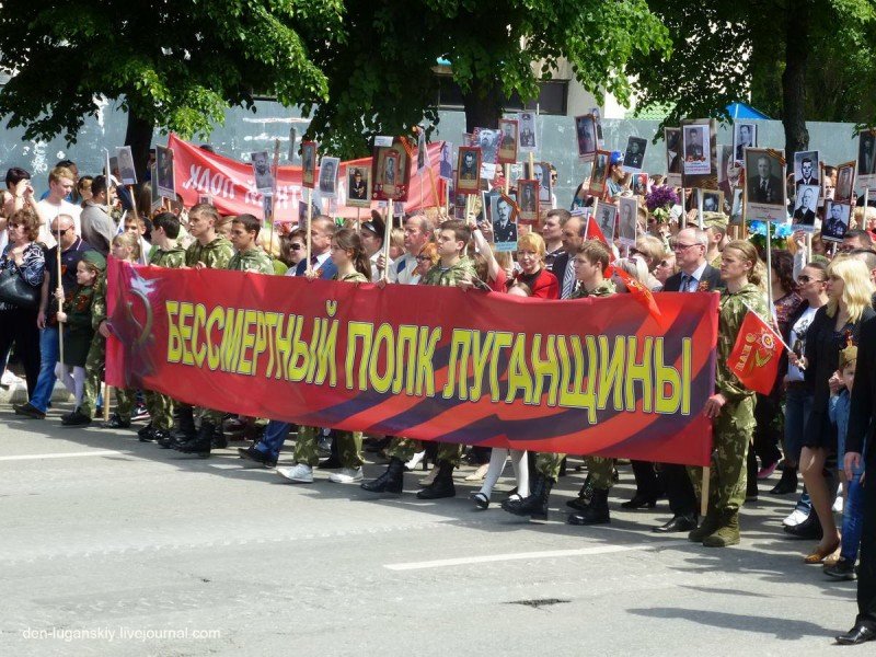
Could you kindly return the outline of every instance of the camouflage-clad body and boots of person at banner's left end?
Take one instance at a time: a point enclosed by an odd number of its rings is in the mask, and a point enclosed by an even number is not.
[[[106,261],[103,269],[106,268]],[[101,274],[94,283],[94,301],[91,304],[91,325],[94,335],[85,357],[85,385],[82,391],[82,403],[72,413],[61,417],[61,424],[68,427],[78,427],[91,424],[97,395],[101,393],[104,366],[106,362],[106,338],[110,337],[110,326],[106,322],[106,276]],[[130,426],[130,415],[134,410],[134,395],[124,388],[116,389],[116,412],[113,414],[107,428],[127,428]],[[110,400],[104,400],[108,404]]]

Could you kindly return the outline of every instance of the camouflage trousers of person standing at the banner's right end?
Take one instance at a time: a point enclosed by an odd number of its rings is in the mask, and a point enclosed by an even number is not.
[[[749,443],[754,434],[754,395],[741,402],[726,403],[715,419],[712,470],[708,477],[708,510],[738,512],[746,500]],[[688,473],[702,499],[703,471],[688,468]]]

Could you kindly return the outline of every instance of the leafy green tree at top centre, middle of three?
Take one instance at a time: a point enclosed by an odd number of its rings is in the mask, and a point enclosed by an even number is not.
[[[506,99],[534,100],[539,81],[567,59],[597,97],[631,99],[625,62],[669,54],[669,32],[645,0],[374,0],[348,2],[343,38],[313,44],[330,102],[308,104],[309,136],[339,155],[370,137],[438,119],[436,60],[450,61],[468,129],[495,127]]]

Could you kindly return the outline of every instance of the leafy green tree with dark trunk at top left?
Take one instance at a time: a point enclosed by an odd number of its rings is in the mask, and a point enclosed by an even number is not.
[[[28,139],[74,142],[95,96],[128,112],[126,143],[142,176],[153,127],[207,135],[256,93],[324,102],[328,82],[302,34],[330,41],[341,0],[5,0],[0,115]],[[140,178],[142,180],[142,177]]]

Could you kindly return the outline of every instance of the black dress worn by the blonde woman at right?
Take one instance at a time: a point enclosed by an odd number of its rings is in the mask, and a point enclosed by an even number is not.
[[[830,422],[828,405],[830,403],[830,387],[828,381],[840,366],[840,351],[848,345],[851,336],[852,343],[857,344],[861,324],[876,316],[872,308],[866,308],[861,319],[855,323],[848,323],[840,331],[835,331],[835,316],[830,318],[827,306],[818,309],[812,318],[812,323],[806,332],[806,383],[814,391],[812,410],[809,420],[804,429],[804,447],[825,448],[828,452],[837,451],[837,427]]]

